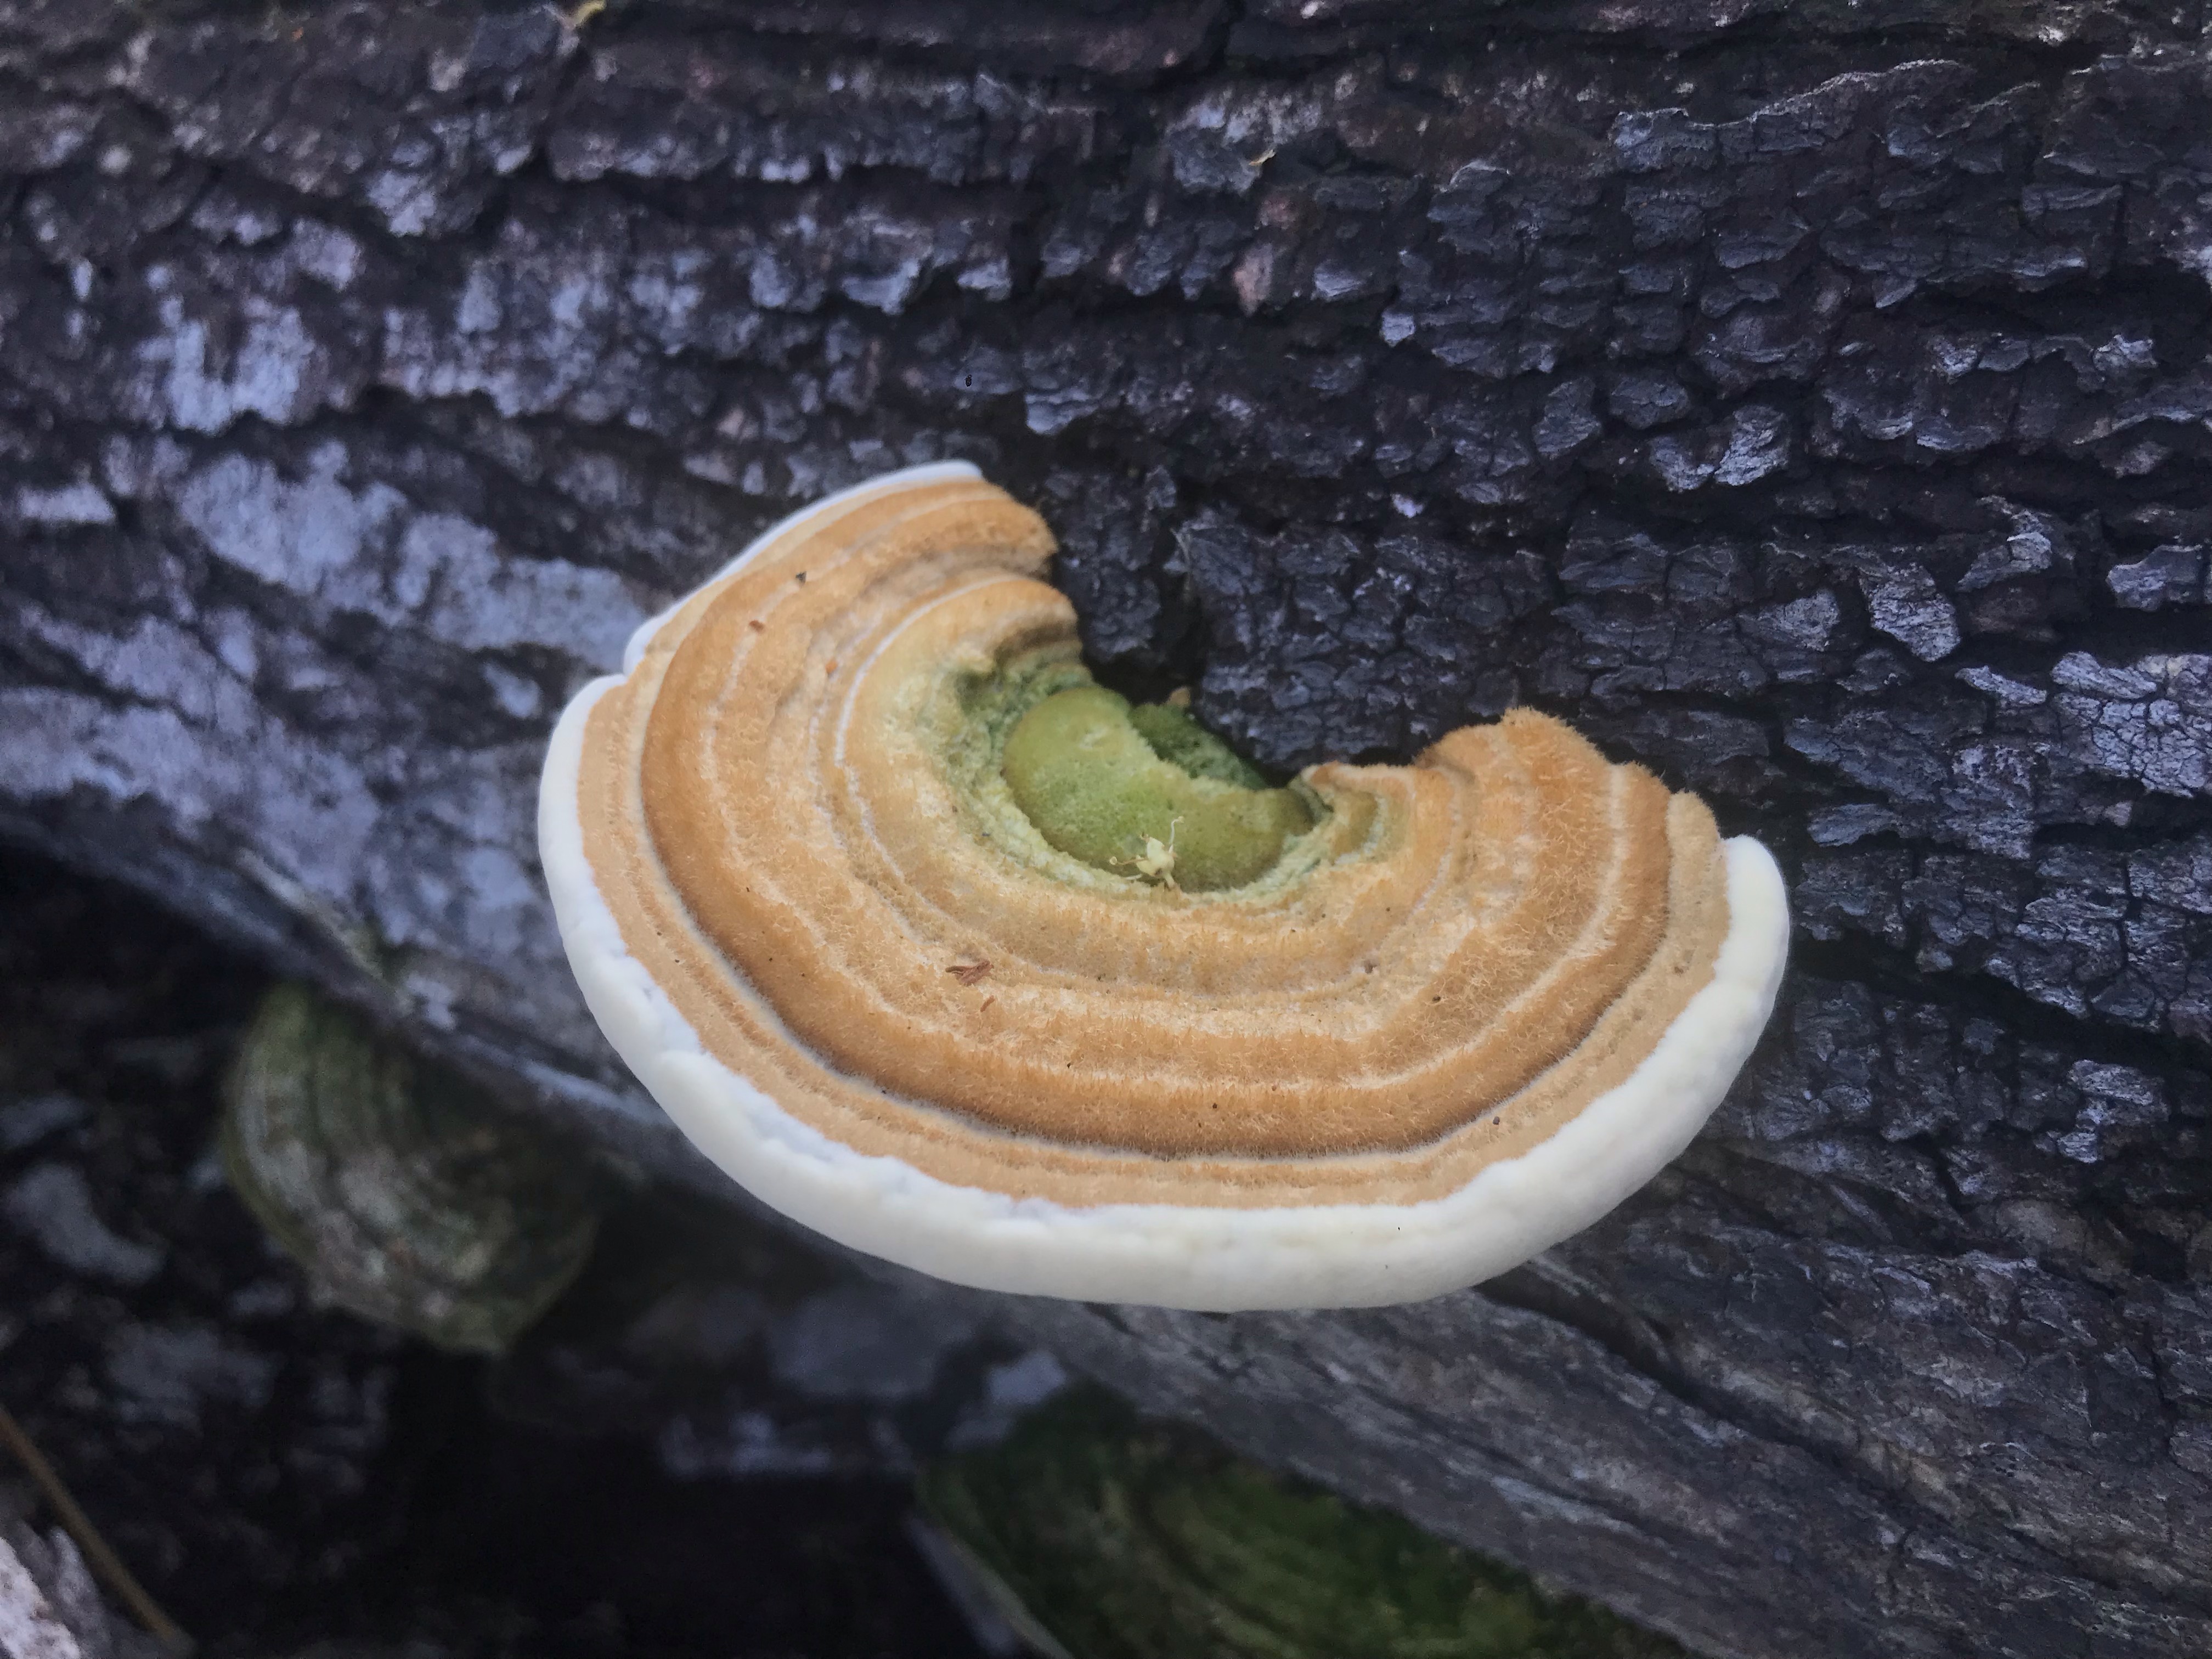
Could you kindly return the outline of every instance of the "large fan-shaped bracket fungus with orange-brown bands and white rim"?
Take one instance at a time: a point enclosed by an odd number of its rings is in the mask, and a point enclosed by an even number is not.
[[[1270,790],[1088,688],[1051,553],[878,478],[562,717],[568,960],[710,1159],[942,1279],[1237,1310],[1475,1283],[1690,1141],[1781,980],[1759,843],[1526,710]]]

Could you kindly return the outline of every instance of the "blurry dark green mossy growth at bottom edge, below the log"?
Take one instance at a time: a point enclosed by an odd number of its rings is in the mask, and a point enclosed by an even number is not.
[[[1683,1659],[1666,1637],[1212,1440],[1066,1394],[922,1504],[1071,1659]]]

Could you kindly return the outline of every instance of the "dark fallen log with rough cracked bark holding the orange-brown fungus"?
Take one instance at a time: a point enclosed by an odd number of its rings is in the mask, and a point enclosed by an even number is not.
[[[1783,856],[1712,1130],[1422,1307],[1000,1312],[1728,1659],[2212,1652],[2199,0],[0,2],[0,825],[686,1170],[562,699],[971,456],[1274,763]]]

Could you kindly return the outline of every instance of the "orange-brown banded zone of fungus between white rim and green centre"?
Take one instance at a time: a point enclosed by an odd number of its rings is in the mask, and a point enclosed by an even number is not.
[[[1440,1197],[1712,978],[1712,814],[1524,710],[1307,772],[1334,858],[1267,896],[1071,887],[991,845],[931,734],[962,672],[1073,641],[1051,549],[982,482],[865,498],[692,595],[593,710],[624,940],[794,1117],[1066,1203]]]

